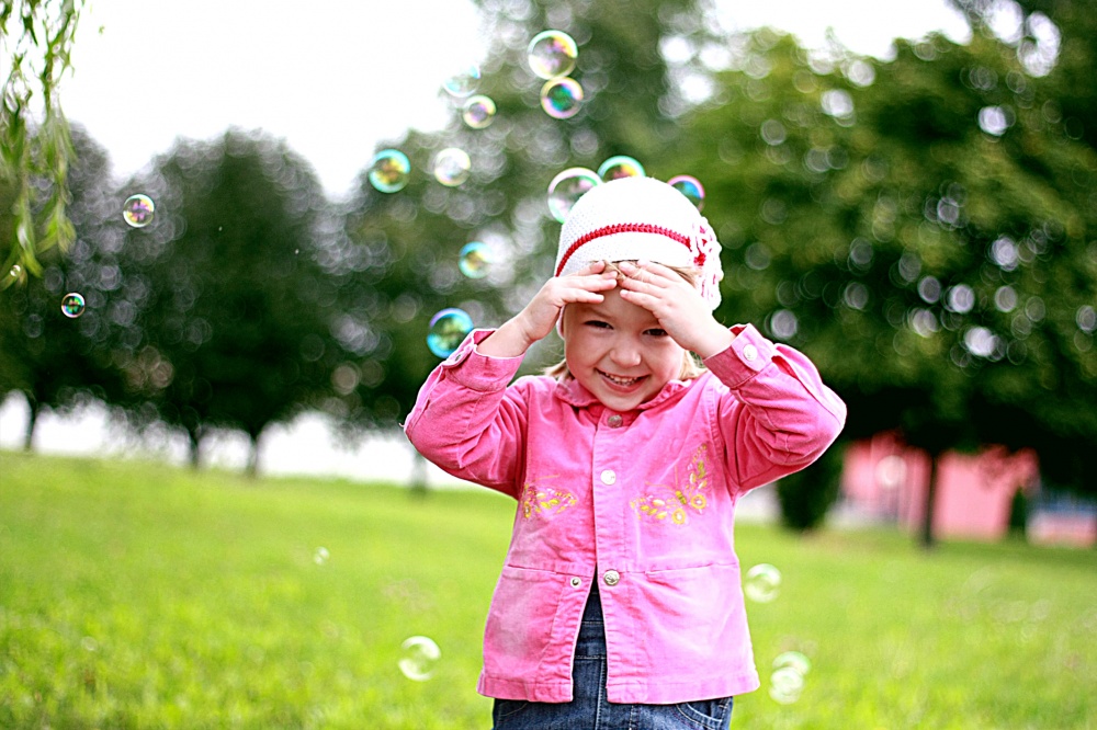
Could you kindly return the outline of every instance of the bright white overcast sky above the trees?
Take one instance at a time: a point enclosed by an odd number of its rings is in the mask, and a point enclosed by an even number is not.
[[[966,30],[945,0],[717,3],[730,27],[771,25],[816,46],[829,25],[846,46],[880,57],[895,37]],[[445,124],[438,90],[483,58],[478,30],[468,0],[89,0],[61,104],[118,178],[176,137],[236,125],[285,138],[340,195],[378,141]]]

